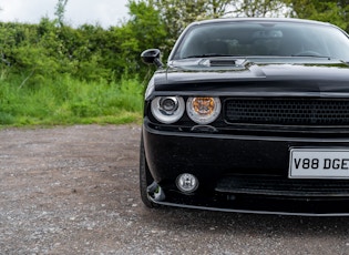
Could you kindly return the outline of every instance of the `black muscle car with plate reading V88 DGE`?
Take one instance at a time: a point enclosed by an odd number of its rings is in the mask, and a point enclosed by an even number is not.
[[[148,207],[349,215],[349,38],[298,19],[188,26],[145,92]]]

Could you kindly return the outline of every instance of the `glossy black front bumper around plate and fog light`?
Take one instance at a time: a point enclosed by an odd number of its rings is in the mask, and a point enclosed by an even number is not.
[[[157,204],[228,212],[349,215],[349,180],[288,177],[292,147],[349,147],[349,139],[170,132],[143,125],[146,162],[161,192]],[[183,194],[179,174],[198,178]]]

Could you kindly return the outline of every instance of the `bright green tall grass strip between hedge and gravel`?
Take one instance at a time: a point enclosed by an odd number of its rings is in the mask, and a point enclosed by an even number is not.
[[[0,78],[0,126],[124,124],[140,122],[143,86],[137,79],[85,82],[62,75],[23,83]]]

